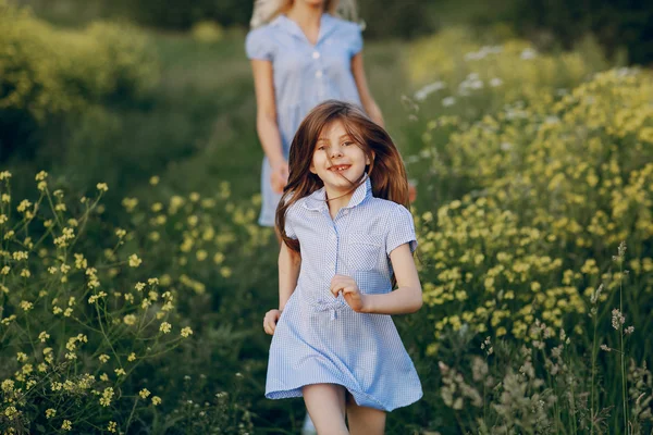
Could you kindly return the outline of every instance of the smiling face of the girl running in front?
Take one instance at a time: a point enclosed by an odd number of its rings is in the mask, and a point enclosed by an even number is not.
[[[341,121],[322,128],[313,150],[310,172],[320,177],[326,191],[344,194],[362,176],[370,159],[349,136]]]

